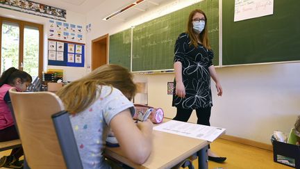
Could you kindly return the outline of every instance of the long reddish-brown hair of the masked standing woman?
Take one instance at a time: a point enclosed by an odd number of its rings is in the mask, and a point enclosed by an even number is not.
[[[204,15],[205,21],[206,21],[206,24],[205,24],[205,27],[204,27],[203,31],[201,33],[199,33],[199,38],[202,42],[202,45],[204,47],[206,47],[206,49],[211,49],[210,42],[208,40],[208,20],[207,20],[207,17],[205,15],[205,13],[202,10],[199,10],[199,9],[193,10],[190,13],[189,17],[188,17],[188,27],[187,27],[186,32],[190,36],[190,40],[191,40],[190,45],[194,45],[194,47],[198,47],[197,36],[194,34],[193,24],[192,24],[192,18],[194,17],[194,15],[196,13],[201,13],[202,15]]]

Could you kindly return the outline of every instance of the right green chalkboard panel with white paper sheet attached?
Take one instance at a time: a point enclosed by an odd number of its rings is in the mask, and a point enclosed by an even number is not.
[[[222,3],[222,64],[300,60],[300,1],[274,0],[274,14],[233,22],[235,0]]]

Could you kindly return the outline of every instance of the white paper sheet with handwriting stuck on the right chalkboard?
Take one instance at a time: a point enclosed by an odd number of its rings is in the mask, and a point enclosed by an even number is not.
[[[234,22],[272,15],[274,0],[235,0]]]

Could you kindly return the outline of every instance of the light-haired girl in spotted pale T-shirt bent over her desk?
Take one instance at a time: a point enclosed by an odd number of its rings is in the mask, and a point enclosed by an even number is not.
[[[70,116],[83,168],[110,168],[102,156],[109,129],[128,159],[144,163],[152,150],[150,120],[133,122],[133,75],[119,65],[103,65],[56,92]]]

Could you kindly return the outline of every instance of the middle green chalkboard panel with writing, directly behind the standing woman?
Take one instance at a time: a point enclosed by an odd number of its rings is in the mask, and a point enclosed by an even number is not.
[[[197,8],[208,17],[210,45],[215,52],[213,63],[219,65],[219,0],[206,0],[135,26],[132,71],[173,69],[174,44],[186,29],[188,15]]]

